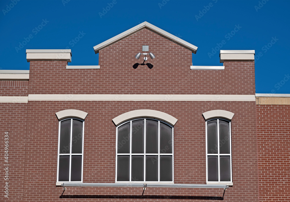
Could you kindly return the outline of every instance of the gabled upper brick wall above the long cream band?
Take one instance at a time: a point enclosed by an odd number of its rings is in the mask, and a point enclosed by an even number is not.
[[[152,69],[133,68],[143,62],[143,56],[134,57],[142,52],[142,45],[156,56],[146,61],[154,65]],[[65,61],[30,61],[29,93],[255,94],[254,62],[225,62],[224,70],[190,70],[191,51],[147,29],[101,50],[100,69],[67,70],[66,65]]]

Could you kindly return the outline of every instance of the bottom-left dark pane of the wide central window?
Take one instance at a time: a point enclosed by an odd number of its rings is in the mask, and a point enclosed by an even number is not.
[[[130,156],[117,156],[117,181],[129,181]]]

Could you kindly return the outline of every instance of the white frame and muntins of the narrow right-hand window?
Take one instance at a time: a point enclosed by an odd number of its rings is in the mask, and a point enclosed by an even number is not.
[[[217,138],[218,138],[218,153],[217,154],[208,154],[207,153],[207,122],[209,121],[213,121],[213,120],[217,120],[217,124],[218,124],[218,128],[217,128],[217,131],[218,131],[218,134],[217,134]],[[220,138],[219,138],[219,120],[223,120],[223,121],[227,121],[229,122],[229,142],[230,142],[230,153],[229,154],[220,154]],[[220,183],[220,184],[226,184],[226,185],[233,185],[232,182],[233,182],[233,172],[232,172],[232,141],[231,141],[231,121],[228,120],[228,119],[221,119],[221,118],[214,118],[214,119],[209,119],[209,120],[206,120],[205,122],[205,140],[206,140],[206,183],[207,184],[217,184],[217,183]],[[207,163],[207,157],[208,156],[218,156],[218,181],[208,181],[208,163]],[[231,181],[220,181],[220,156],[230,156],[230,176],[231,176]]]

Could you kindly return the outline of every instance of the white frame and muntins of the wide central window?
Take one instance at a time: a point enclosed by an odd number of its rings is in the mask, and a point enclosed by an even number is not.
[[[144,120],[144,153],[133,153],[132,154],[132,121],[136,120]],[[146,151],[146,120],[153,120],[153,121],[158,121],[158,153],[145,153]],[[126,123],[130,122],[130,153],[117,153],[118,149],[118,128]],[[172,128],[172,153],[170,154],[162,154],[160,153],[160,123],[164,123]],[[158,119],[153,119],[153,118],[139,118],[139,119],[132,119],[130,121],[126,121],[116,127],[116,165],[115,165],[115,183],[174,183],[174,139],[173,139],[173,134],[174,134],[174,127],[164,121],[160,121]],[[130,155],[130,174],[129,174],[129,179],[131,180],[131,164],[132,164],[132,155],[133,156],[141,156],[144,155],[144,181],[117,181],[117,156],[124,156]],[[158,181],[145,181],[146,178],[146,155],[150,156],[158,156]],[[172,181],[160,181],[160,156],[162,155],[167,155],[167,156],[172,156]]]

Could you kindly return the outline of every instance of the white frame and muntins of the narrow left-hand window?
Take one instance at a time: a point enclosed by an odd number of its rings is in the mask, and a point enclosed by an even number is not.
[[[59,153],[59,147],[60,147],[60,123],[65,120],[70,120],[70,153],[68,154],[60,154]],[[73,120],[78,120],[83,123],[83,139],[82,139],[82,153],[81,154],[72,154],[72,141],[73,141]],[[59,127],[58,127],[58,146],[57,146],[57,184],[59,182],[83,182],[83,165],[84,165],[84,126],[85,126],[85,121],[82,119],[77,119],[77,118],[67,118],[67,119],[62,119],[59,121]],[[80,155],[82,156],[81,158],[81,181],[70,181],[71,179],[71,157]],[[70,156],[70,170],[69,170],[69,181],[59,181],[59,156]]]

